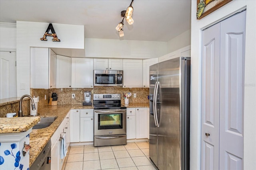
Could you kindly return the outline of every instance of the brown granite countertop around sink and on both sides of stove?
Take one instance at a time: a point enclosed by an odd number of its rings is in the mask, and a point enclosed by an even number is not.
[[[141,104],[129,104],[129,105],[126,105],[126,107],[134,108],[134,107],[149,107],[149,106],[147,103],[141,103]],[[34,163],[34,161],[36,160],[36,158],[38,157],[42,149],[46,146],[48,141],[50,141],[52,135],[58,129],[59,125],[62,123],[62,121],[64,120],[64,118],[66,117],[70,109],[94,109],[94,107],[81,106],[81,105],[57,105],[57,106],[38,107],[39,117],[57,117],[57,119],[49,127],[46,127],[43,129],[32,129],[32,132],[30,133],[30,144],[29,144],[31,146],[31,149],[29,151],[29,167]],[[20,118],[24,120],[34,118],[34,119],[38,119],[39,121],[39,117],[1,118],[0,125],[2,125],[2,119],[11,119],[13,121],[14,119],[20,119]],[[20,125],[20,122],[23,122],[23,121],[19,121],[19,125]],[[33,125],[28,125],[28,127],[30,128],[33,127],[37,122],[35,122]],[[14,122],[12,123],[15,124]]]

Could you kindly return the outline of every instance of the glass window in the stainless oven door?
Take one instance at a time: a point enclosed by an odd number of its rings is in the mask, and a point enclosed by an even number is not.
[[[98,130],[100,129],[122,129],[123,114],[98,114]]]

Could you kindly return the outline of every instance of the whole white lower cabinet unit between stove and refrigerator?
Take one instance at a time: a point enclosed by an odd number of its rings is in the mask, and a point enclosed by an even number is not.
[[[148,138],[148,109],[145,107],[126,110],[127,139]]]

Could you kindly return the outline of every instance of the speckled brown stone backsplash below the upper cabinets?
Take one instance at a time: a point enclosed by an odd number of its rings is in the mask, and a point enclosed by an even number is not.
[[[149,88],[122,88],[122,87],[94,87],[94,88],[54,88],[54,89],[30,89],[30,96],[39,96],[38,107],[48,106],[49,98],[52,93],[58,94],[58,105],[62,104],[81,104],[84,102],[84,92],[91,92],[91,101],[93,94],[121,94],[121,103],[124,104],[124,94],[131,92],[129,103],[149,103]],[[124,94],[123,94],[124,93]],[[136,93],[136,98],[133,94]],[[76,99],[72,99],[75,94]],[[45,100],[46,98],[46,100]],[[6,113],[18,113],[19,102],[0,106],[0,117],[6,117]],[[30,100],[22,101],[22,111],[24,115],[30,114]]]

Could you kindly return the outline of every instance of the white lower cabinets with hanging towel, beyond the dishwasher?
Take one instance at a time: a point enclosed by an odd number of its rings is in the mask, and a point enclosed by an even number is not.
[[[70,112],[66,115],[65,119],[62,121],[58,129],[51,137],[51,169],[61,170],[64,163],[64,158],[61,158],[61,138],[65,138],[66,148],[69,146],[69,118]]]

